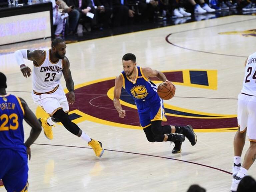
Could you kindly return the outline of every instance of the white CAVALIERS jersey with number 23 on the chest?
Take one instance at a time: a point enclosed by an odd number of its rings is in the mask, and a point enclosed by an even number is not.
[[[34,65],[33,89],[36,95],[55,92],[60,84],[62,76],[62,60],[53,63],[50,59],[50,50],[45,51],[44,61],[39,65]]]

